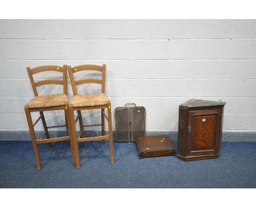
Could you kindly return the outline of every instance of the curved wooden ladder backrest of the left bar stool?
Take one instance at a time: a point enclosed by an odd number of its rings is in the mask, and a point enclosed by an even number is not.
[[[33,75],[37,74],[39,72],[44,71],[57,71],[61,72],[63,74],[63,79],[45,79],[42,81],[34,82]],[[63,85],[63,94],[67,95],[67,65],[62,66],[38,66],[36,68],[30,69],[30,67],[27,67],[27,74],[28,77],[30,77],[30,82],[34,91],[34,96],[38,96],[37,87],[42,86],[44,84],[61,84]]]

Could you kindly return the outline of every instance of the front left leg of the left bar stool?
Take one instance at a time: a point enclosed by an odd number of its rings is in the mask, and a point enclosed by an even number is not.
[[[24,109],[27,117],[28,129],[30,130],[30,137],[31,137],[31,141],[34,149],[34,155],[36,156],[37,169],[40,170],[41,162],[40,162],[40,156],[37,148],[36,134],[34,133],[33,121],[32,121],[30,110],[28,109],[28,107],[25,106]]]

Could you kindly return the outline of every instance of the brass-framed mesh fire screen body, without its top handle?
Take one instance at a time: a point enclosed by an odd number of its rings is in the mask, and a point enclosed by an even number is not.
[[[116,142],[135,142],[144,136],[146,109],[144,107],[115,108]]]

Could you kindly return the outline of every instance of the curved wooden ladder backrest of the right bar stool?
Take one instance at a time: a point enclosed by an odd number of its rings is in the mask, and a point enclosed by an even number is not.
[[[86,71],[86,70],[102,72],[102,79],[84,78],[84,79],[79,79],[78,81],[75,81],[73,74],[78,71]],[[101,84],[101,93],[105,93],[105,86],[106,86],[106,65],[105,64],[103,64],[102,66],[85,64],[85,65],[74,66],[73,68],[71,68],[71,66],[68,66],[68,74],[71,80],[71,85],[72,85],[74,95],[77,95],[77,87],[76,87],[77,85],[88,84],[88,83]]]

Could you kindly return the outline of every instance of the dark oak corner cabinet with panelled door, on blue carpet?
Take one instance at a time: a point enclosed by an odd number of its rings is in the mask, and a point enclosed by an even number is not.
[[[191,99],[179,105],[177,157],[218,158],[225,102]]]

